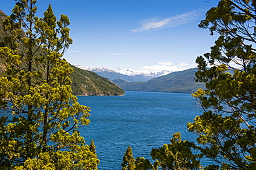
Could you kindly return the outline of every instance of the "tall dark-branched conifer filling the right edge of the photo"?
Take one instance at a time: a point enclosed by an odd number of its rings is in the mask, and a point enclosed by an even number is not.
[[[206,169],[256,167],[256,6],[255,1],[221,0],[199,27],[219,34],[209,53],[196,59],[193,94],[203,108],[189,131],[199,135],[201,152],[216,164]]]

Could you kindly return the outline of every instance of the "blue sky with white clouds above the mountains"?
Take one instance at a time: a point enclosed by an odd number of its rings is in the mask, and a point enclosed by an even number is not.
[[[217,0],[38,0],[38,17],[49,3],[71,21],[73,44],[64,54],[71,64],[175,72],[196,67],[217,39],[198,27]],[[0,0],[8,15],[14,6]]]

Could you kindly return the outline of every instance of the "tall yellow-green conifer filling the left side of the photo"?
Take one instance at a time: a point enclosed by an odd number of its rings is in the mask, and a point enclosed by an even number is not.
[[[51,5],[39,19],[36,3],[17,0],[3,21],[0,167],[97,169],[95,145],[85,145],[78,131],[89,125],[90,108],[73,96],[73,70],[62,59],[72,43],[70,22],[63,14],[57,21]]]

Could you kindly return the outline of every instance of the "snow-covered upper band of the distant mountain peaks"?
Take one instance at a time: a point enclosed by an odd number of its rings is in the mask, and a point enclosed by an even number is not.
[[[77,65],[77,64],[75,64],[74,66],[82,70],[89,70],[91,72],[116,72],[126,76],[146,76],[149,78],[156,78],[158,76],[164,76],[171,73],[171,71],[168,71],[168,70],[162,70],[161,72],[145,73],[145,72],[136,72],[134,70],[121,69],[121,68],[116,68],[115,70],[111,70],[106,67],[86,67],[84,65]]]

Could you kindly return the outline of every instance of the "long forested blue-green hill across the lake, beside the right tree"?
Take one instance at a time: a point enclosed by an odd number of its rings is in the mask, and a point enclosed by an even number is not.
[[[127,91],[193,93],[199,88],[205,89],[204,83],[194,81],[196,71],[197,68],[192,68],[181,72],[172,72],[147,82],[127,82],[120,79],[113,80],[113,82]]]

